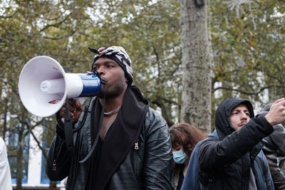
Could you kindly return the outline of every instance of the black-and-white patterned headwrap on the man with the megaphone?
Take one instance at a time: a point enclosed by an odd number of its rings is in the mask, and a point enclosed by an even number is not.
[[[98,50],[93,48],[88,48],[93,53],[96,53],[94,56],[94,60],[92,63],[92,68],[96,60],[100,57],[107,57],[114,60],[125,72],[125,77],[128,79],[128,85],[130,86],[133,83],[133,68],[132,61],[130,60],[130,56],[125,51],[123,47],[120,46],[110,46],[99,48]],[[91,68],[91,69],[92,69]]]

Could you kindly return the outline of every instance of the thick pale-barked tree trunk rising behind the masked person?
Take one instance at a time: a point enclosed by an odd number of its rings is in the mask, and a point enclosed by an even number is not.
[[[209,134],[211,58],[206,0],[180,0],[180,28],[183,70],[181,120]]]

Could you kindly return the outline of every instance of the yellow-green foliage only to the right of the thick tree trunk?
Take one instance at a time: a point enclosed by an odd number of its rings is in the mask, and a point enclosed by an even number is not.
[[[262,101],[263,88],[269,92],[274,86],[284,89],[280,80],[284,78],[281,74],[284,71],[284,56],[281,55],[284,23],[276,17],[283,4],[273,2],[241,4],[237,15],[219,1],[210,1],[214,75],[218,81],[227,84],[227,88],[237,89],[239,95],[247,92],[248,98],[257,101]],[[225,75],[229,71],[231,73]],[[270,100],[281,96],[269,93]]]

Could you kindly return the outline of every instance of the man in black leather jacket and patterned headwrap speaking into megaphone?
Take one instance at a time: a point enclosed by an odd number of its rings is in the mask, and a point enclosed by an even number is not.
[[[68,176],[66,189],[76,190],[173,189],[167,123],[131,85],[128,53],[120,46],[89,49],[95,53],[93,73],[102,81],[100,94],[82,114],[78,101],[68,101],[74,124],[73,151],[68,151],[68,132],[61,122],[67,107],[56,114],[56,137],[46,162],[49,179]]]

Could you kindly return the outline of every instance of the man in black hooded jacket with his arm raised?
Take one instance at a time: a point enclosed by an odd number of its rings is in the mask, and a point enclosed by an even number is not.
[[[274,189],[261,140],[284,121],[284,98],[259,117],[254,117],[249,100],[221,102],[215,116],[217,136],[199,144],[197,189]]]

